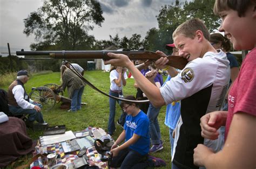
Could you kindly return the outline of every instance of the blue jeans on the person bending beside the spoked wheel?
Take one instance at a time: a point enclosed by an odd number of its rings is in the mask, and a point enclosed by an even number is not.
[[[82,95],[84,91],[84,86],[80,89],[76,89],[73,91],[72,99],[71,99],[71,110],[77,111],[81,109]]]

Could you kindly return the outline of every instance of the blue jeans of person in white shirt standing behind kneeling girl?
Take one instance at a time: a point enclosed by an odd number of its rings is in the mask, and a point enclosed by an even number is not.
[[[123,92],[120,92],[120,94],[123,94]],[[109,95],[114,96],[114,97],[119,97],[119,93],[109,91]],[[116,130],[116,126],[114,125],[114,116],[116,115],[116,103],[119,104],[119,102],[115,99],[109,98],[109,124],[107,126],[107,130],[111,133]],[[126,118],[126,113],[122,110],[122,114],[119,118],[119,123],[124,126],[125,123],[125,118]]]

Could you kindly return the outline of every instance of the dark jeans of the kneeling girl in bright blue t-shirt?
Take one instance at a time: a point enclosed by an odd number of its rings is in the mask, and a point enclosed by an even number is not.
[[[130,148],[125,148],[118,152],[118,156],[112,158],[111,167],[120,167],[120,169],[146,168],[146,158],[147,154],[141,155]]]

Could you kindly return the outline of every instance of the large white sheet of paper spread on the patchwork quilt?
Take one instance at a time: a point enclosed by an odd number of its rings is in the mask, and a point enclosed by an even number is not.
[[[40,136],[40,143],[41,146],[49,145],[49,144],[55,144],[60,143],[66,140],[72,140],[75,139],[75,134],[70,130],[66,131],[64,134],[55,134],[50,136]]]

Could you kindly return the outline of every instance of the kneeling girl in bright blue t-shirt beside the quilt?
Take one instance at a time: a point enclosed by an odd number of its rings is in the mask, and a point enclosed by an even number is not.
[[[134,96],[125,99],[136,100]],[[135,103],[121,103],[127,113],[124,130],[111,147],[111,167],[145,168],[150,148],[149,118]],[[125,142],[118,146],[122,141]]]

